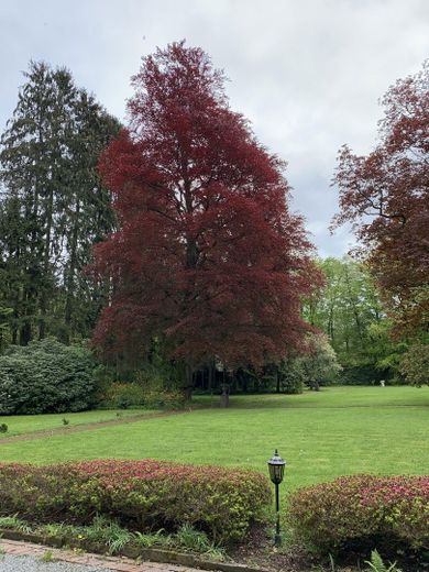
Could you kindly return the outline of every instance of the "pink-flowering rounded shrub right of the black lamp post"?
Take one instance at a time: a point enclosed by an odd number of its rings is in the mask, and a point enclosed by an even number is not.
[[[301,488],[289,499],[298,537],[320,552],[429,544],[429,476],[343,476]]]

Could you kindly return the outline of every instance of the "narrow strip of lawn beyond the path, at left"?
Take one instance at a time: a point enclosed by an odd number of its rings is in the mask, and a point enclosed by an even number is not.
[[[77,414],[0,416],[0,424],[7,424],[8,426],[8,432],[6,435],[0,435],[0,438],[22,433],[32,433],[34,431],[58,429],[61,427],[64,427],[63,419],[67,419],[69,421],[69,427],[72,427],[76,425],[109,421],[111,419],[118,419],[135,415],[150,415],[151,413],[154,411],[110,409],[97,411],[81,411]]]

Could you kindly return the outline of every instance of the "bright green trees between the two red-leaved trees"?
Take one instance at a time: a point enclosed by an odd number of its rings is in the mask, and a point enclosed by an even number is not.
[[[389,337],[391,322],[367,267],[350,257],[319,262],[324,286],[302,306],[304,317],[323,331],[343,367],[343,383],[400,381],[407,350]]]

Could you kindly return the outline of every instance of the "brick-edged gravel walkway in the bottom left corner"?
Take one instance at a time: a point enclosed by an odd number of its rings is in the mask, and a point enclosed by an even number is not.
[[[161,564],[142,562],[123,557],[101,557],[80,553],[73,550],[59,550],[42,547],[30,542],[0,539],[1,572],[197,572],[194,568],[177,564]],[[44,563],[43,557],[48,552],[50,560],[57,562]],[[200,571],[199,571],[200,572]]]

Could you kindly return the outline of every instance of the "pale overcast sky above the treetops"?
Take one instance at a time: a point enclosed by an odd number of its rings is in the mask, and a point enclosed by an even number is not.
[[[372,148],[380,97],[429,57],[429,0],[0,0],[0,128],[30,59],[67,66],[124,120],[142,55],[182,38],[226,70],[232,109],[288,162],[319,254],[345,253],[352,237],[328,231],[337,152]]]

